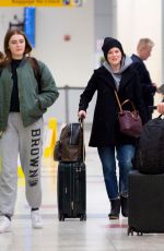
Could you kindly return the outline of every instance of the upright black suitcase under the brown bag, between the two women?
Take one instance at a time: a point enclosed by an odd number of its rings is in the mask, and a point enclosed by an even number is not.
[[[86,220],[86,171],[84,163],[58,165],[57,178],[58,218]]]

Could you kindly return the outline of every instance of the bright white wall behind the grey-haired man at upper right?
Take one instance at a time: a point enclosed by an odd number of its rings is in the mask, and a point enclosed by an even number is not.
[[[117,0],[117,38],[127,55],[136,52],[138,40],[150,37],[155,46],[145,61],[152,81],[162,81],[162,0]]]

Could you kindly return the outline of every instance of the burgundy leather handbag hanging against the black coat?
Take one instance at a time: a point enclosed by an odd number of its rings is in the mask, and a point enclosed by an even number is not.
[[[142,132],[142,120],[138,110],[134,107],[134,104],[130,99],[126,99],[122,104],[120,104],[116,91],[115,96],[119,106],[118,121],[120,132],[129,136],[139,138]],[[127,103],[130,103],[132,111],[122,109],[122,106]]]

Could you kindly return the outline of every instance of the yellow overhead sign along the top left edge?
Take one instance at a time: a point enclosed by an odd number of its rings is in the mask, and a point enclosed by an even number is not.
[[[80,7],[83,0],[0,0],[0,7]]]

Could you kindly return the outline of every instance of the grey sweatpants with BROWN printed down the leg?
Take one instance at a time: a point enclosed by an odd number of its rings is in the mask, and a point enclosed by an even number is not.
[[[17,157],[25,175],[25,194],[30,207],[42,203],[40,158],[43,118],[24,127],[19,112],[10,112],[7,130],[0,139],[0,215],[12,216],[17,192]]]

